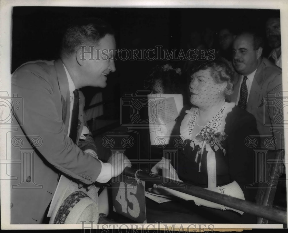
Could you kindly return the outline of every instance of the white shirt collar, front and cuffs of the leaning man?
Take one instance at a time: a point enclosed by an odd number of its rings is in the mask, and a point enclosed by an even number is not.
[[[65,65],[64,65],[64,69],[65,69],[65,72],[67,75],[69,92],[70,92],[70,117],[69,117],[69,126],[68,126],[68,135],[70,135],[72,111],[73,111],[73,105],[74,105],[73,91],[75,91],[76,88],[75,88],[73,80],[72,80],[68,70],[66,69]],[[98,156],[94,150],[87,149],[84,152],[89,153],[90,156],[93,156],[94,158],[98,159]],[[101,172],[96,179],[96,182],[106,183],[112,178],[112,165],[110,163],[103,163],[101,160],[99,160],[99,161],[100,161],[102,167],[101,167]]]

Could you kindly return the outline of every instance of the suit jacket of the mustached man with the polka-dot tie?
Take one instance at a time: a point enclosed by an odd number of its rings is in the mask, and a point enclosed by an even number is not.
[[[231,102],[236,102],[240,85],[241,75],[235,72]],[[282,69],[263,58],[252,81],[246,109],[256,118],[262,147],[284,149],[282,96]],[[274,138],[274,143],[270,144],[269,138]]]

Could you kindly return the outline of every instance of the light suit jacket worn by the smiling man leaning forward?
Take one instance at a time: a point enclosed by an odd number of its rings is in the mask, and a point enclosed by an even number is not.
[[[34,61],[12,76],[12,95],[22,98],[23,112],[11,133],[11,224],[39,224],[57,185],[59,171],[86,184],[95,182],[101,163],[85,149],[96,147],[91,135],[79,140],[84,95],[79,92],[79,123],[75,145],[67,136],[70,94],[61,60]]]

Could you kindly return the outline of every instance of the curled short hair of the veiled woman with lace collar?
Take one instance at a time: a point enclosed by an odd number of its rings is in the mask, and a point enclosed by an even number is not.
[[[211,76],[216,83],[227,82],[226,89],[224,91],[225,95],[231,95],[233,93],[233,75],[234,69],[232,65],[223,57],[218,57],[217,59],[209,62],[202,63],[197,67],[192,69],[191,74],[196,73],[199,70],[210,69]]]

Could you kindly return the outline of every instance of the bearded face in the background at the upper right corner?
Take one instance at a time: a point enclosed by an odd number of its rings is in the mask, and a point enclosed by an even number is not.
[[[266,38],[271,48],[281,46],[280,18],[270,18],[266,22]]]

